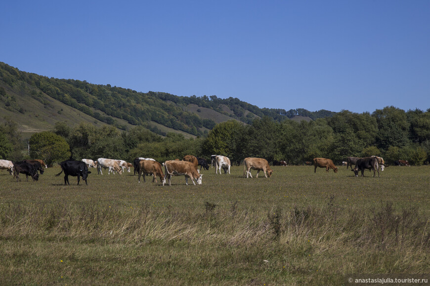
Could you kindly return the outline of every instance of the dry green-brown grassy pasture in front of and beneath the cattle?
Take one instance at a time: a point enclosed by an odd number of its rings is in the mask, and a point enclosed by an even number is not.
[[[429,166],[381,178],[273,168],[269,179],[210,169],[197,186],[1,172],[0,284],[343,285],[352,273],[430,273]]]

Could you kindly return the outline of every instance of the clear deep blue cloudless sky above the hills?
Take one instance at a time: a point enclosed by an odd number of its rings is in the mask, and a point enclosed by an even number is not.
[[[430,1],[3,1],[0,61],[258,107],[430,108]]]

